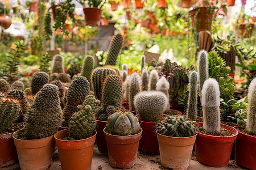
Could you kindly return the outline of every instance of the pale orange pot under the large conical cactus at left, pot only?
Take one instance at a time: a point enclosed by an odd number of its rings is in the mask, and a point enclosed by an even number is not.
[[[19,158],[20,169],[47,169],[52,163],[55,150],[55,140],[51,137],[34,140],[18,139],[16,131],[13,134],[14,144]]]

